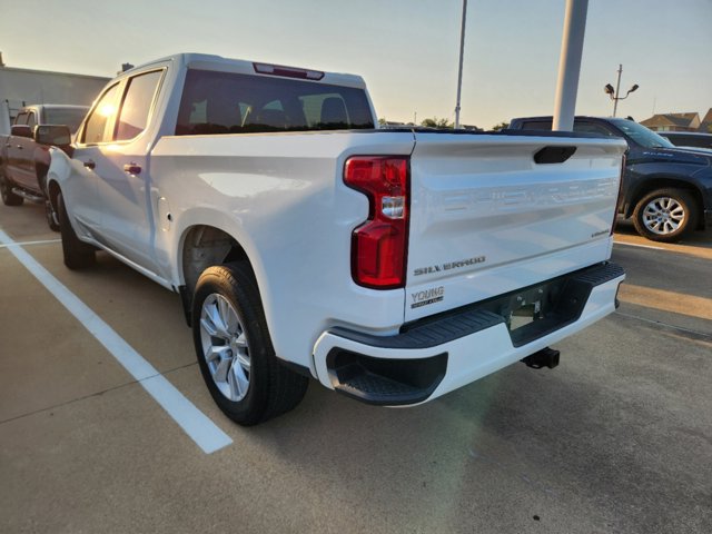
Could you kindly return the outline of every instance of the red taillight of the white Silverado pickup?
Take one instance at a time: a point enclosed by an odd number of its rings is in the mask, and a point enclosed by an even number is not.
[[[344,182],[368,197],[368,219],[352,234],[352,276],[359,286],[405,286],[408,248],[409,158],[357,156]]]

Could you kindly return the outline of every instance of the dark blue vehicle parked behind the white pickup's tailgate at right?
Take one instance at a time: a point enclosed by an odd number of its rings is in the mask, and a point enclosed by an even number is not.
[[[513,119],[510,129],[551,130],[552,118]],[[672,243],[712,226],[712,152],[675,147],[629,119],[576,117],[574,131],[627,141],[619,212],[640,235]]]

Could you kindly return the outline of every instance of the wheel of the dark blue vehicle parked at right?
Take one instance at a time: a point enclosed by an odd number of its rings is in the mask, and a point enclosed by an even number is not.
[[[633,211],[637,233],[653,241],[674,243],[698,226],[700,210],[683,189],[657,189],[639,200]]]

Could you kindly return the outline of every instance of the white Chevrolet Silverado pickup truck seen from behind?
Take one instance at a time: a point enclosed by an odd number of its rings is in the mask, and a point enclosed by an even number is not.
[[[65,263],[106,250],[179,293],[243,425],[309,378],[405,406],[553,367],[550,344],[615,309],[623,140],[376,125],[357,76],[191,53],[135,68],[52,150]]]

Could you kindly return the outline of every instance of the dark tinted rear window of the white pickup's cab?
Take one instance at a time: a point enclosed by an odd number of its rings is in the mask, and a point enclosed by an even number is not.
[[[374,128],[363,89],[190,69],[177,136]]]

